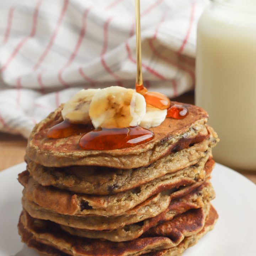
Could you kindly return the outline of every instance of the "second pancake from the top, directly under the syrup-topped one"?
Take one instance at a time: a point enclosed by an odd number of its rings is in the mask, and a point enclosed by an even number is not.
[[[102,166],[45,167],[30,159],[27,170],[39,184],[55,186],[76,193],[107,195],[130,190],[163,175],[177,172],[211,154],[217,143],[214,133],[203,142],[166,155],[151,165],[136,169],[113,169]]]

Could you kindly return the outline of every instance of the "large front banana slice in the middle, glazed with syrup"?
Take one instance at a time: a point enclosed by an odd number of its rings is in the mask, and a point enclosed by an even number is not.
[[[145,112],[144,97],[132,89],[120,86],[111,86],[98,91],[89,107],[89,116],[95,128],[137,126]]]

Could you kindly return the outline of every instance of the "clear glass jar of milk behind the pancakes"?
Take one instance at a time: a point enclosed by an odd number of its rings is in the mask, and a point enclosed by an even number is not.
[[[256,0],[215,0],[203,12],[196,105],[219,135],[214,159],[256,171]]]

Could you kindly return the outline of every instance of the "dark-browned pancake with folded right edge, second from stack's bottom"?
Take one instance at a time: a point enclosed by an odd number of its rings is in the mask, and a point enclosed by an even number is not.
[[[150,229],[143,238],[118,243],[71,236],[60,229],[59,225],[34,219],[26,211],[21,214],[18,228],[21,236],[22,229],[26,229],[37,242],[55,247],[70,255],[135,256],[175,247],[186,236],[197,234],[204,227],[209,209],[210,205],[189,210],[169,222]]]

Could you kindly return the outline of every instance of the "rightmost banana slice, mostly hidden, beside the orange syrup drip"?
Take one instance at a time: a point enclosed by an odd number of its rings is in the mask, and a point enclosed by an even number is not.
[[[146,114],[140,122],[140,126],[143,128],[150,128],[159,126],[166,117],[167,110],[160,110],[159,108],[146,107]]]

